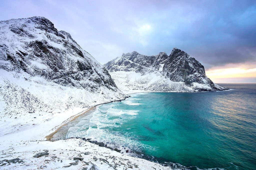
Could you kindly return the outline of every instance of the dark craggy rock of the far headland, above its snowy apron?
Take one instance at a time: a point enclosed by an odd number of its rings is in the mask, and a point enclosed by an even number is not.
[[[160,73],[165,79],[171,82],[182,82],[187,89],[185,91],[217,91],[227,90],[228,88],[214,84],[206,75],[204,66],[195,58],[189,56],[184,51],[173,48],[170,55],[161,52],[155,56],[145,56],[133,51],[123,54],[112,61],[104,64],[104,67],[112,74],[117,71],[134,71],[141,75],[153,72]],[[155,83],[157,84],[157,82]],[[159,82],[159,86],[162,86]],[[145,86],[144,86],[145,87]],[[191,89],[191,90],[190,90]],[[143,90],[153,90],[144,88]],[[166,87],[162,91],[172,91]],[[155,89],[159,91],[159,89]],[[160,90],[161,91],[161,90]],[[176,89],[176,91],[179,91]]]

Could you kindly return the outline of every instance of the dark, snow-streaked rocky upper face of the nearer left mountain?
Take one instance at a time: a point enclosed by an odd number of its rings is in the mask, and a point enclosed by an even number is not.
[[[106,71],[65,31],[58,31],[44,17],[1,21],[1,65],[8,71],[23,70],[63,86],[117,91]],[[6,62],[3,62],[6,61]]]

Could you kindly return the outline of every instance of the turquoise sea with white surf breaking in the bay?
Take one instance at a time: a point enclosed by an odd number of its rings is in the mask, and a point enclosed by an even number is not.
[[[132,94],[98,106],[67,137],[177,169],[256,169],[256,84],[220,85],[231,90]]]

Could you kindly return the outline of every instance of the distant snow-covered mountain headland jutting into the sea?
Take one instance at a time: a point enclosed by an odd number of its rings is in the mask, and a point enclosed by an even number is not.
[[[104,64],[118,88],[123,91],[218,91],[228,88],[213,83],[204,66],[184,51],[173,48],[145,56],[133,51]]]

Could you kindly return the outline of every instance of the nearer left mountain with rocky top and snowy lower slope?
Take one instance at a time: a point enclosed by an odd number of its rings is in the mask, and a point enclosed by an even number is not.
[[[127,97],[69,33],[44,17],[0,21],[0,77],[5,116],[61,112]]]

